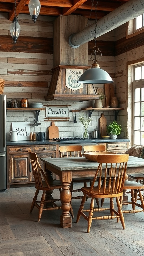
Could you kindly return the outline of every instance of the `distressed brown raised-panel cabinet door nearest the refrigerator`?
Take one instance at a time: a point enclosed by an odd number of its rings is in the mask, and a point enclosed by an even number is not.
[[[9,155],[9,182],[31,182],[32,173],[29,172],[29,157],[25,155]]]

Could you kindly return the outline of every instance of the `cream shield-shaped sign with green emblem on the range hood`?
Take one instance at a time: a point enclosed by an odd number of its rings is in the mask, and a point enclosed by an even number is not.
[[[74,91],[83,88],[83,83],[77,82],[82,74],[83,69],[66,69],[66,86]]]

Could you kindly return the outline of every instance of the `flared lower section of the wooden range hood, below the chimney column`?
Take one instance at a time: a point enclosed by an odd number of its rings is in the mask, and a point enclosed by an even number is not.
[[[84,84],[83,88],[76,91],[69,89],[66,86],[66,69],[83,69],[85,71],[88,67],[57,66],[53,68],[49,91],[45,96],[46,101],[88,101],[99,99],[93,84]]]

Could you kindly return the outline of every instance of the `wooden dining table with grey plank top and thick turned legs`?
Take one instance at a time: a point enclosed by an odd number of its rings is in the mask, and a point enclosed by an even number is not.
[[[99,163],[90,162],[85,157],[40,158],[40,160],[44,162],[46,176],[52,179],[52,173],[54,173],[59,176],[63,184],[60,194],[63,211],[60,216],[60,224],[63,228],[70,228],[72,227],[72,218],[70,215],[71,192],[69,189],[72,178],[94,177]],[[129,156],[127,174],[137,173],[144,173],[144,159]],[[52,197],[52,193],[47,195],[47,197],[49,196]]]

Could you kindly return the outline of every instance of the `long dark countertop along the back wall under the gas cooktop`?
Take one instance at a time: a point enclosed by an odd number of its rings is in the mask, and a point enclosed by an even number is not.
[[[45,141],[7,141],[7,146],[26,146],[26,145],[52,145],[52,144],[76,144],[76,143],[107,143],[107,142],[130,142],[128,139],[91,139],[94,141],[82,140],[82,141],[53,141],[53,140],[45,140]]]

